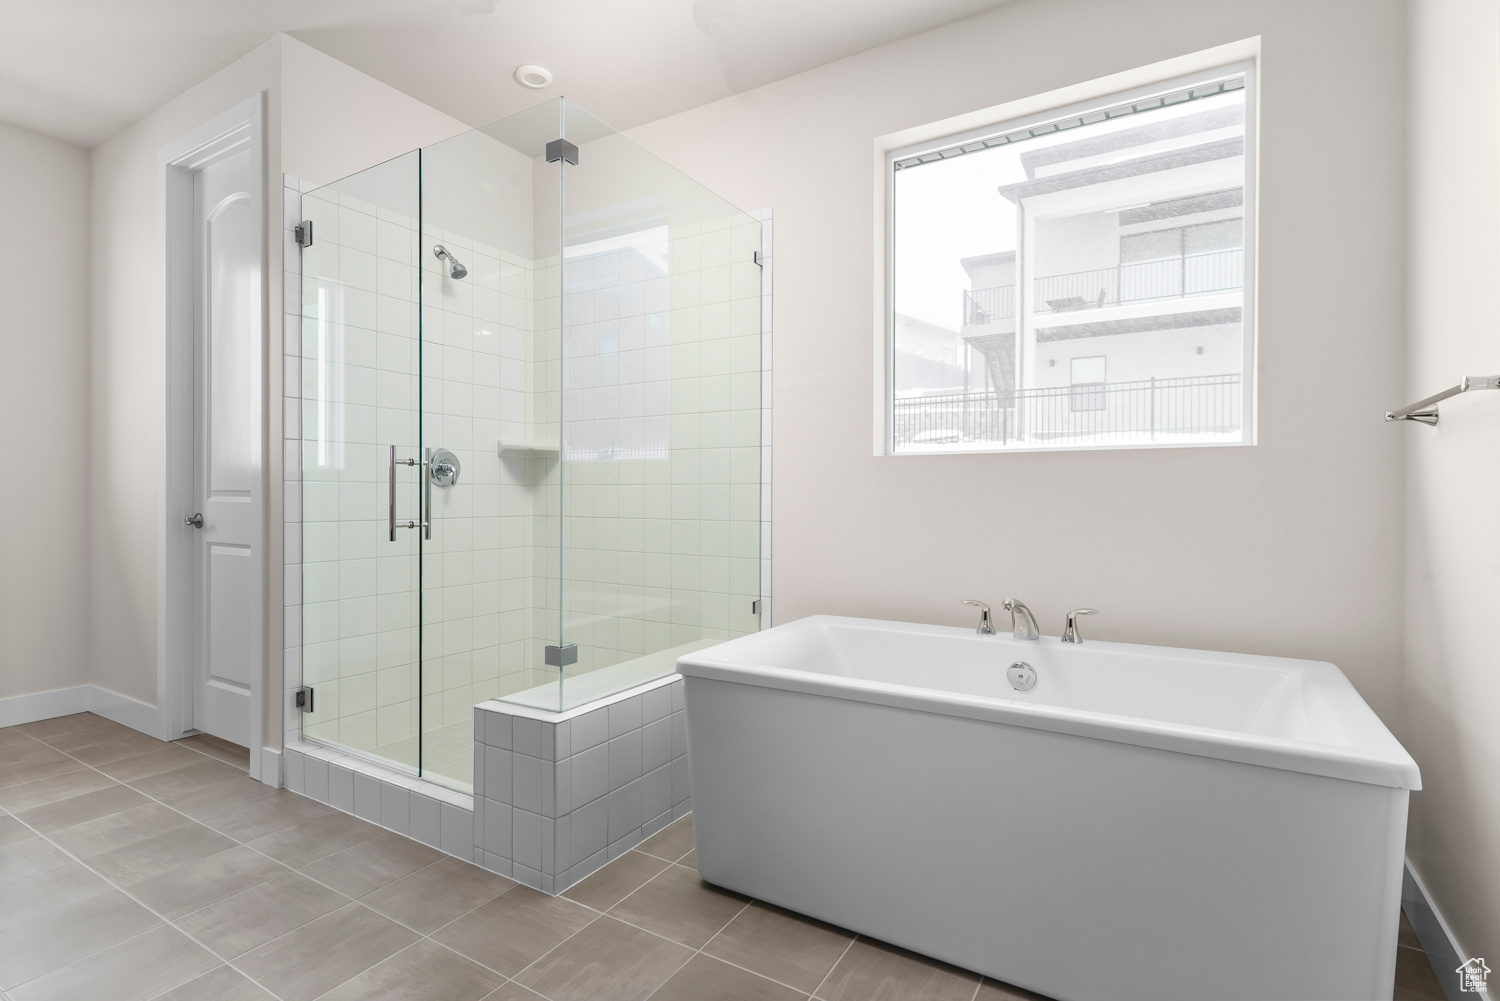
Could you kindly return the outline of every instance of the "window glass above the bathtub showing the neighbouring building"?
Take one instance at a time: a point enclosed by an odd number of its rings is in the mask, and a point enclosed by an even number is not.
[[[1251,74],[888,155],[890,452],[1252,441]]]

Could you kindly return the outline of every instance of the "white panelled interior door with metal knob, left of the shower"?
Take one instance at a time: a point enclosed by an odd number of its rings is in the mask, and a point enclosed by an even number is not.
[[[254,150],[194,174],[195,729],[250,746],[260,671],[261,257]],[[258,743],[258,741],[256,741]]]

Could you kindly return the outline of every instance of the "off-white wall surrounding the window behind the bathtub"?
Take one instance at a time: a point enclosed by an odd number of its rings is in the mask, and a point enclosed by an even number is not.
[[[1338,663],[1388,720],[1401,677],[1404,6],[1017,0],[632,132],[776,210],[776,621],[969,623]],[[874,140],[1262,38],[1260,443],[872,456]],[[1476,297],[1482,297],[1476,296]]]

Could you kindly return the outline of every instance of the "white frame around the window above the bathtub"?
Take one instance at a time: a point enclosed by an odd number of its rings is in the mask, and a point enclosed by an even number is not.
[[[996,108],[934,122],[916,129],[876,140],[878,209],[880,219],[878,246],[878,317],[876,324],[876,420],[874,455],[1005,455],[1022,452],[1098,452],[1119,449],[1212,449],[1254,446],[1258,438],[1258,327],[1257,327],[1257,254],[1258,231],[1258,50],[1260,39],[1246,39],[1215,50],[1184,56],[1154,66],[1114,74],[1047,95],[1014,101]],[[1242,435],[1239,441],[1128,441],[1084,443],[1070,446],[976,446],[972,449],[903,449],[894,443],[896,402],[896,168],[898,159],[921,156],[981,138],[1035,128],[1048,122],[1072,119],[1089,111],[1143,101],[1158,95],[1197,87],[1224,77],[1245,77],[1245,284],[1242,324]],[[1144,81],[1144,83],[1143,83]],[[1148,113],[1149,114],[1149,113]],[[978,125],[976,125],[978,123]]]

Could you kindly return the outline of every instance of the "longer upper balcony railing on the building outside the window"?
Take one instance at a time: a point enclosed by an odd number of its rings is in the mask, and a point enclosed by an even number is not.
[[[1032,312],[1070,312],[1152,299],[1184,299],[1230,291],[1242,288],[1244,284],[1244,251],[1188,254],[1162,261],[1140,261],[1038,278]]]

